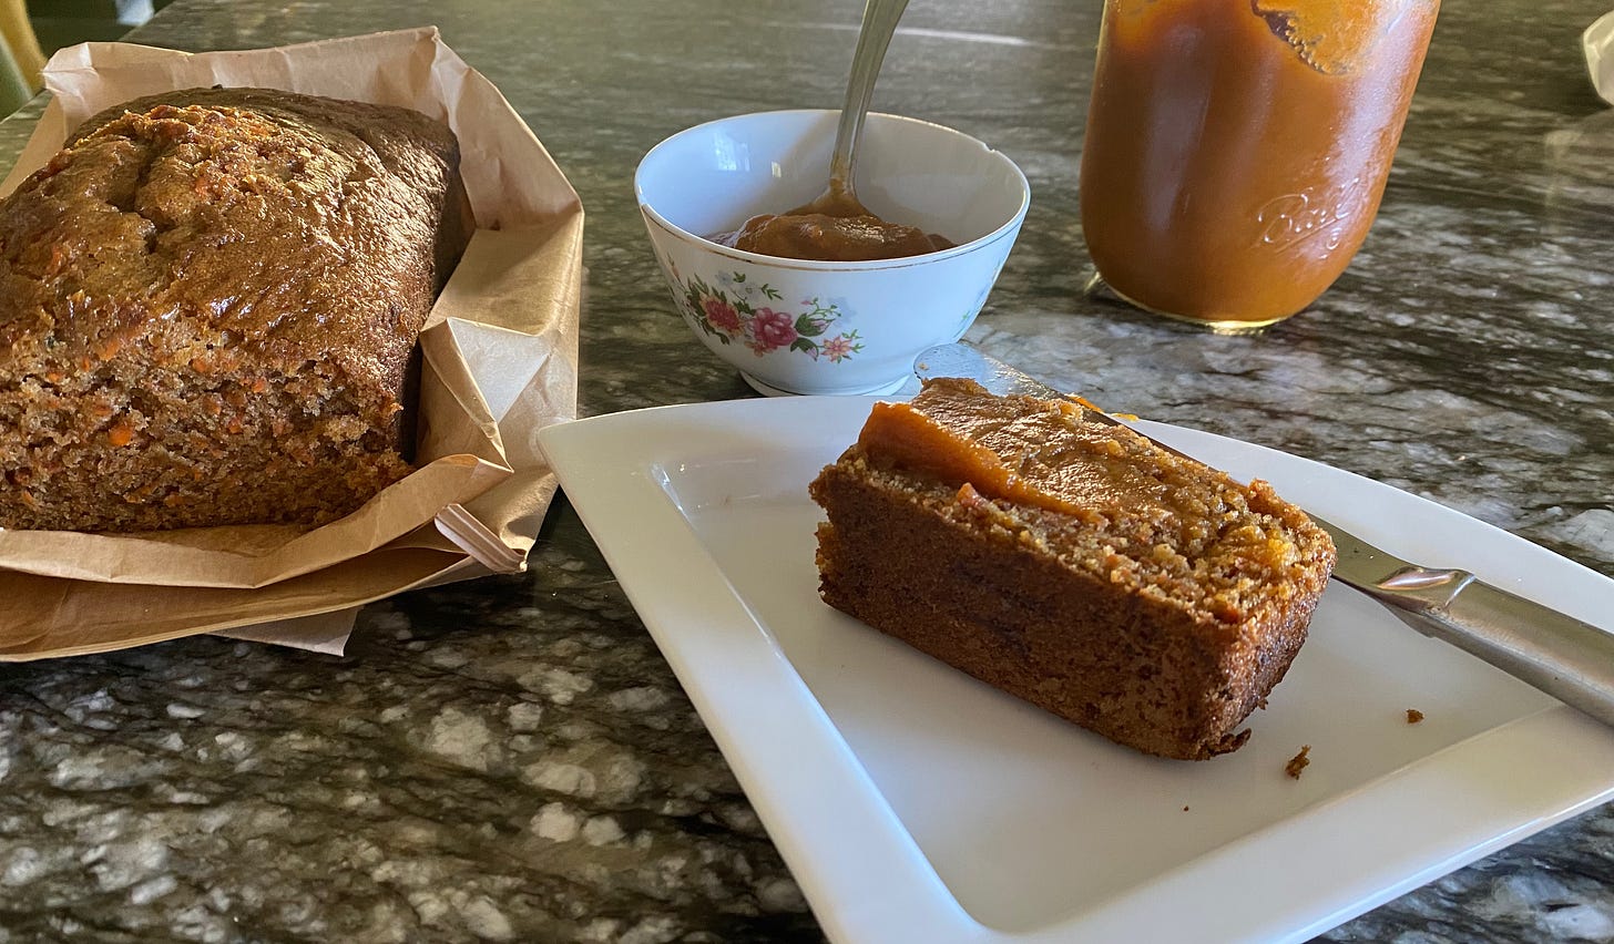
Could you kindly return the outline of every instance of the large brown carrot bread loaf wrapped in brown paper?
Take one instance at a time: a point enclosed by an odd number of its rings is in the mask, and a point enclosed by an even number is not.
[[[424,115],[258,89],[86,123],[0,200],[0,526],[320,523],[402,478],[458,160]]]

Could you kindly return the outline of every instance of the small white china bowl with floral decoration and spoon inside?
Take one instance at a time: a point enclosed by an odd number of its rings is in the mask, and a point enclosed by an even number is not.
[[[689,328],[763,394],[888,394],[914,358],[975,321],[1031,190],[1009,158],[959,131],[870,115],[857,195],[875,215],[954,249],[880,261],[810,261],[712,242],[757,213],[823,192],[838,111],[710,121],[655,145],[634,189]]]

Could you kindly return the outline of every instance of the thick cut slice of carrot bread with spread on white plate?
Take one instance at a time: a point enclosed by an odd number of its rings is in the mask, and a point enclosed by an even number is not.
[[[876,403],[812,497],[830,605],[1164,757],[1244,742],[1335,560],[1265,482],[959,379]]]

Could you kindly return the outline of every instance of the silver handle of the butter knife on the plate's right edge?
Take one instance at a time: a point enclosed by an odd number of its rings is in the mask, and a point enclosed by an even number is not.
[[[1461,571],[1459,571],[1461,573]],[[1614,726],[1614,633],[1469,578],[1445,600],[1375,587],[1404,623]]]

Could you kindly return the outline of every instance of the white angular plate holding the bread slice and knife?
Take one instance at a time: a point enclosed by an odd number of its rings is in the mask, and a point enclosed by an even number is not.
[[[831,610],[807,482],[872,402],[663,407],[542,432],[831,939],[1299,941],[1614,796],[1614,731],[1340,584],[1251,741],[1199,763],[1117,747]],[[1139,428],[1399,557],[1582,620],[1614,613],[1614,581],[1441,505]],[[1293,779],[1302,744],[1312,763]]]

